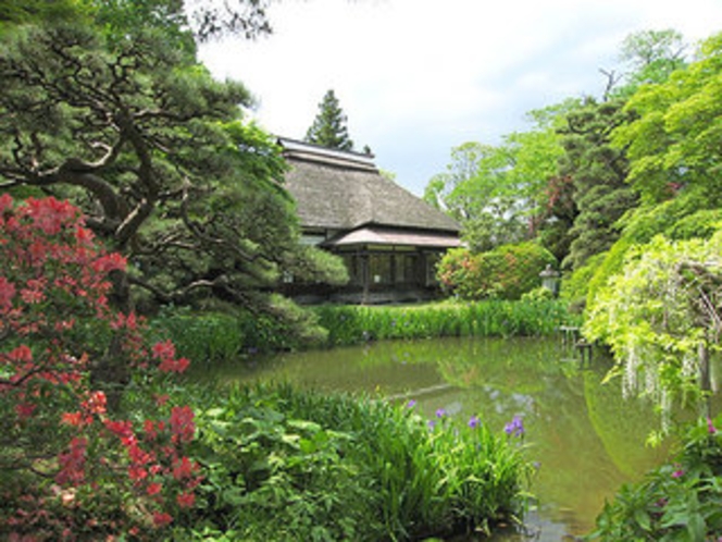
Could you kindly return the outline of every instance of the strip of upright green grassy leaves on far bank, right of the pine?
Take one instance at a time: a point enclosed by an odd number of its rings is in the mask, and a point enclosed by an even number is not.
[[[548,335],[570,318],[565,306],[555,299],[375,307],[324,305],[314,310],[319,323],[328,330],[329,346],[385,338]]]

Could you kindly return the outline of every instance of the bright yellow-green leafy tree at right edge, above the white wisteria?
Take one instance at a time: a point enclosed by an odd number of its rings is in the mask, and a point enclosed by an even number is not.
[[[612,133],[612,143],[630,162],[627,183],[640,207],[621,223],[622,236],[595,276],[589,298],[620,272],[626,250],[661,234],[669,239],[709,238],[720,220],[720,39],[702,45],[698,60],[667,82],[642,87],[626,109],[632,122]]]

